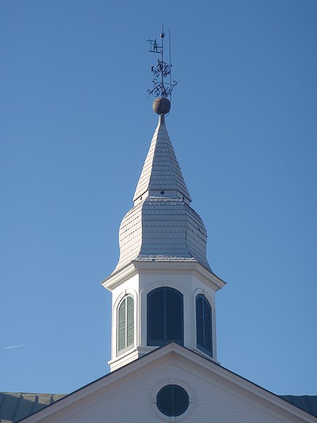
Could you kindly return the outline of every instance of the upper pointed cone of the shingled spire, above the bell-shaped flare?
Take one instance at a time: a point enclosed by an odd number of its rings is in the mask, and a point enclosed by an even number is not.
[[[145,159],[135,197],[137,201],[145,193],[155,193],[164,191],[166,195],[174,191],[174,196],[187,199],[191,202],[185,180],[182,177],[182,171],[176,159],[173,145],[166,130],[164,116],[159,118],[159,125],[154,133],[147,159]]]

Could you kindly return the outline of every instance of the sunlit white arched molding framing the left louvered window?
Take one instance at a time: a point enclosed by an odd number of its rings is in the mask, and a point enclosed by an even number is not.
[[[123,350],[119,351],[119,345],[118,345],[118,307],[120,307],[120,304],[123,302],[123,300],[126,297],[132,297],[133,299],[133,324],[134,324],[134,333],[133,333],[133,343],[130,345],[130,348],[125,348]],[[137,292],[133,289],[125,289],[123,290],[120,295],[116,298],[116,301],[113,304],[112,308],[112,356],[118,357],[119,355],[123,355],[125,351],[128,351],[133,348],[134,345],[137,345],[137,302],[138,302],[138,296]]]

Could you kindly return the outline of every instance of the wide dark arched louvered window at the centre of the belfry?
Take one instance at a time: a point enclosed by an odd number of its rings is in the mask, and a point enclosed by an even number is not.
[[[163,287],[147,295],[147,345],[184,342],[182,293]]]

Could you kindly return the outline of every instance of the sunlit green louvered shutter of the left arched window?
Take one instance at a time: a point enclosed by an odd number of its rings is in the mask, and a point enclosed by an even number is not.
[[[118,306],[118,354],[132,348],[135,342],[134,304],[132,295],[125,295]]]

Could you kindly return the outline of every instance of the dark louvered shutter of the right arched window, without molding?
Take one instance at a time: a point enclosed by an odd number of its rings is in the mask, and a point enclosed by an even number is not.
[[[213,356],[211,306],[204,295],[196,297],[196,333],[197,348]]]

